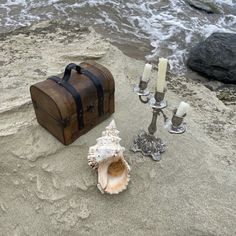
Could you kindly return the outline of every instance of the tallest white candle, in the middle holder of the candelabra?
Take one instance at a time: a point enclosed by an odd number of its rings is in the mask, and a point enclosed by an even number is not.
[[[166,84],[167,62],[168,60],[165,58],[159,59],[156,90],[160,93],[164,91],[165,84]]]

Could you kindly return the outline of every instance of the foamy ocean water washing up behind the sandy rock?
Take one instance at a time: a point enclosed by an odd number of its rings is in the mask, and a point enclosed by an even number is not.
[[[41,20],[73,21],[147,61],[167,57],[180,73],[193,45],[213,32],[236,33],[236,0],[205,2],[217,14],[196,10],[187,0],[0,0],[0,32]]]

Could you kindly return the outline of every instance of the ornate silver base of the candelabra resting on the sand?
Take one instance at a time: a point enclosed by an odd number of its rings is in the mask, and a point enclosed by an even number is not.
[[[141,152],[144,156],[151,156],[154,161],[161,160],[161,153],[166,150],[166,144],[154,135],[142,131],[131,147],[133,152]]]

